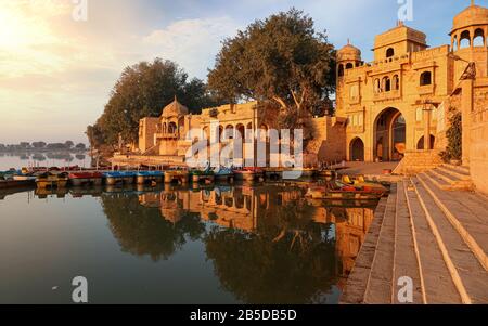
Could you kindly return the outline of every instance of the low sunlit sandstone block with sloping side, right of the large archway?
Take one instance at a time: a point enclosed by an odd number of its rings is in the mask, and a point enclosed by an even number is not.
[[[439,151],[407,151],[395,173],[413,175],[434,169],[441,164]]]

